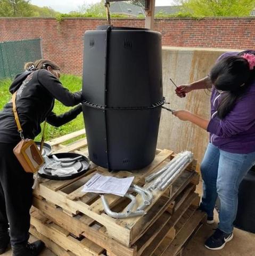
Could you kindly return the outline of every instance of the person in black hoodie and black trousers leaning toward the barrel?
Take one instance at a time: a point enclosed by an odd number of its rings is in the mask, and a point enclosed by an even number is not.
[[[62,86],[56,63],[41,59],[35,64],[29,62],[26,70],[15,77],[9,89],[12,94],[17,91],[17,112],[24,138],[34,139],[45,119],[60,126],[81,113],[81,91],[71,93]],[[57,116],[52,111],[55,99],[65,106],[78,106]],[[26,173],[13,154],[20,140],[10,101],[0,112],[0,254],[11,241],[13,256],[35,256],[44,249],[44,243],[28,243],[33,174]]]

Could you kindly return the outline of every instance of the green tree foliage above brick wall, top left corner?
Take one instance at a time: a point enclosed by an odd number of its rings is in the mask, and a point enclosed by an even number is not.
[[[0,0],[1,17],[30,17],[30,0]]]

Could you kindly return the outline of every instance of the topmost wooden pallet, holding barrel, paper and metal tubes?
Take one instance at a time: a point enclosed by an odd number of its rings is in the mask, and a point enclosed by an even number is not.
[[[81,135],[81,132],[76,132],[76,136]],[[83,141],[86,139],[81,139],[72,142],[70,145],[62,146],[56,143],[62,143],[65,139],[72,139],[73,134],[65,135],[64,138],[57,138],[55,140],[50,141],[51,145],[54,145],[57,151],[70,151],[70,150],[81,150],[84,152],[85,149],[81,147]],[[86,145],[86,143],[84,144]],[[98,197],[97,194],[94,193],[82,193],[81,189],[83,185],[94,175],[94,173],[98,172],[103,175],[113,175],[114,177],[124,178],[134,176],[134,183],[137,185],[143,185],[145,180],[145,176],[152,172],[156,172],[160,170],[163,166],[167,164],[169,159],[173,157],[173,152],[170,150],[158,150],[157,155],[155,156],[152,164],[143,170],[127,172],[109,172],[102,167],[95,166],[91,170],[89,170],[83,176],[68,180],[68,181],[53,181],[42,179],[42,183],[38,186],[38,188],[34,191],[34,195],[37,197],[45,198],[48,202],[51,202],[59,207],[61,207],[65,212],[71,215],[77,215],[83,213],[86,215],[86,218],[89,220],[97,221],[102,226],[105,227],[105,232],[111,238],[116,239],[120,243],[125,246],[131,246],[134,242],[141,236],[141,234],[149,228],[152,221],[148,221],[149,218],[152,218],[155,221],[160,215],[163,213],[164,208],[168,207],[171,199],[176,196],[178,188],[172,189],[170,186],[165,191],[159,191],[154,194],[153,201],[150,206],[146,208],[148,213],[145,216],[140,216],[136,218],[127,218],[116,220],[104,213],[104,208],[101,202],[101,198]],[[194,169],[195,163],[191,164],[189,169],[182,173],[182,181],[188,181],[195,179],[197,177],[197,173]],[[188,167],[188,166],[187,166]],[[198,180],[198,178],[196,178]],[[159,199],[164,194],[168,193],[168,200],[164,200],[164,204],[160,203]],[[120,207],[119,210],[124,210],[127,201],[123,201],[123,198],[120,198],[115,195],[106,195],[106,199],[109,202],[111,208]],[[137,202],[141,202],[142,198],[137,195]],[[126,205],[125,205],[126,203]],[[160,206],[159,206],[160,205]],[[122,209],[121,209],[122,208]],[[155,214],[155,209],[157,209],[157,214]],[[153,213],[153,214],[150,214]]]

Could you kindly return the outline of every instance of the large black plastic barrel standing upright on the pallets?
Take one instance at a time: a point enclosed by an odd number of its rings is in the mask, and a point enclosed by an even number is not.
[[[155,157],[162,96],[161,34],[101,26],[86,31],[83,104],[89,158],[137,170]]]

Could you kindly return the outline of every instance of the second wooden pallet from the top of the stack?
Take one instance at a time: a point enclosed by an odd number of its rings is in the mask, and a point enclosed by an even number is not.
[[[177,212],[178,216],[182,215],[185,209],[181,206],[188,207],[192,202],[198,205],[198,196],[193,193],[198,182],[199,175],[197,173],[189,171],[183,173],[182,177],[179,177],[173,185],[172,191],[174,192],[172,195],[174,196],[170,198],[163,195],[152,207],[151,211],[144,216],[144,228],[141,228],[142,231],[137,236],[137,242],[131,247],[122,245],[116,239],[109,237],[104,226],[88,218],[85,214],[79,213],[76,216],[72,216],[61,207],[37,197],[34,197],[33,205],[36,210],[40,210],[40,214],[43,213],[46,218],[51,219],[74,236],[79,238],[86,237],[114,255],[134,256],[141,255],[147,244],[152,242],[156,234],[155,228],[158,232],[161,230],[159,229],[159,224],[163,227],[171,217],[171,214],[175,212]],[[162,221],[162,218],[165,218],[165,221]],[[152,232],[153,235],[150,235]]]

